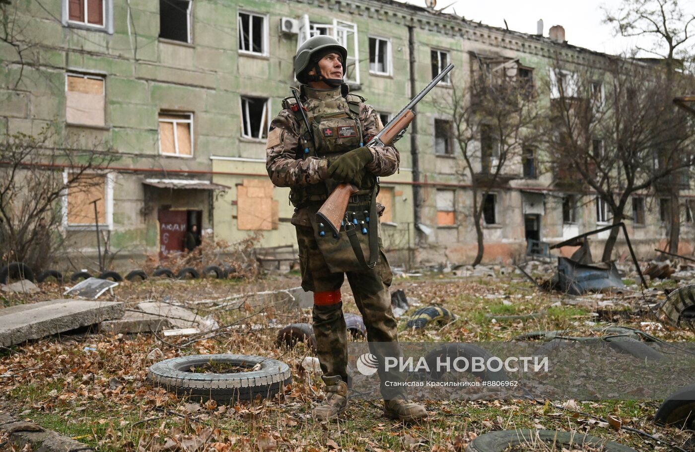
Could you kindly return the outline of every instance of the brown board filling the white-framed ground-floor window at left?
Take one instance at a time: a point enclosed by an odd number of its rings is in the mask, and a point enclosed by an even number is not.
[[[83,176],[67,189],[67,224],[95,224],[94,204],[97,201],[99,224],[106,225],[106,176]]]

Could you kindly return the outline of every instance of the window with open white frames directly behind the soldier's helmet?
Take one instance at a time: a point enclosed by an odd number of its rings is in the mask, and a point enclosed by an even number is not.
[[[345,81],[359,83],[359,49],[357,42],[357,24],[333,19],[332,24],[313,24],[309,22],[309,15],[301,19],[297,49],[312,36],[328,35],[336,38],[347,49],[347,62],[345,62]]]

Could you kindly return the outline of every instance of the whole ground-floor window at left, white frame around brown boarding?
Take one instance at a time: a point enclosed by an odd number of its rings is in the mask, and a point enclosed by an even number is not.
[[[66,172],[65,181],[68,176]],[[84,174],[67,187],[65,201],[64,221],[68,227],[92,228],[96,220],[100,227],[111,228],[113,184],[106,174]],[[94,201],[97,204],[96,215]]]

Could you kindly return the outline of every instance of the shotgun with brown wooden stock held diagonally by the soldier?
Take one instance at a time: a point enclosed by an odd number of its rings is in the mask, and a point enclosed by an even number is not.
[[[432,81],[427,83],[427,86],[425,86],[423,90],[416,95],[416,97],[411,99],[407,106],[404,106],[403,109],[398,112],[398,114],[391,118],[391,121],[386,123],[386,126],[382,128],[382,131],[377,133],[375,137],[369,140],[367,146],[389,146],[391,143],[393,143],[393,139],[396,137],[396,135],[402,133],[413,121],[415,117],[413,108],[453,68],[454,65],[448,65],[442,70],[442,72],[437,74],[436,77],[432,78]],[[320,223],[327,224],[327,226],[329,226],[329,228],[331,228],[335,234],[340,233],[341,221],[343,221],[343,217],[345,217],[347,203],[350,201],[350,196],[355,193],[357,193],[357,187],[350,183],[341,183],[338,185],[316,213],[318,221]]]

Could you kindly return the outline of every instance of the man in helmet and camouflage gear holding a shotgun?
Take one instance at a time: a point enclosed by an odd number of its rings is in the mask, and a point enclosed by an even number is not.
[[[370,203],[375,202],[377,176],[394,174],[400,163],[393,146],[363,146],[383,125],[374,108],[364,103],[366,99],[348,92],[343,83],[346,60],[347,49],[333,37],[319,35],[302,44],[294,63],[295,76],[302,83],[302,106],[293,98],[284,99],[284,109],[270,124],[266,145],[266,168],[272,183],[291,187],[302,287],[314,292],[313,330],[327,393],[325,401],[312,412],[319,421],[338,417],[347,408],[347,331],[341,301],[345,274],[367,328],[372,353],[383,360],[385,349],[377,350],[372,344],[379,342],[386,343],[389,355],[400,354],[389,294],[391,267],[380,240],[379,262],[373,269],[361,271],[345,271],[338,259],[345,256],[322,253],[322,243],[318,242],[325,231],[317,229],[322,225],[316,224],[316,211],[338,183],[359,187],[348,210],[367,215]],[[307,130],[302,109],[311,130]],[[360,218],[363,224],[365,220],[367,224],[373,221],[370,233],[377,233],[377,218]],[[354,254],[349,246],[345,251]],[[384,385],[386,375],[381,366],[379,377],[384,415],[401,421],[427,417],[425,407],[407,400],[404,390]]]

